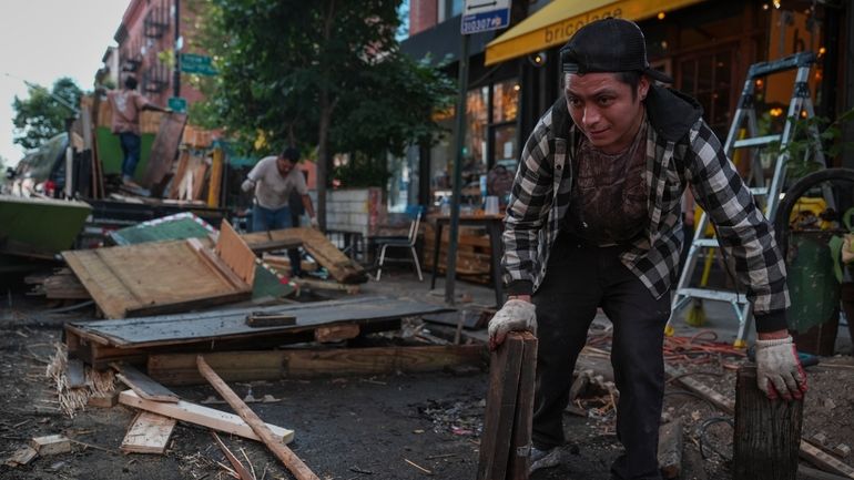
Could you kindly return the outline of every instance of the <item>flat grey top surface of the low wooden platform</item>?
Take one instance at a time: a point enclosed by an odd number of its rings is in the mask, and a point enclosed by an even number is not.
[[[314,330],[342,321],[368,321],[403,318],[445,310],[446,307],[387,297],[362,297],[301,305],[277,305],[187,315],[128,318],[121,320],[79,321],[67,329],[119,348],[179,345],[225,338],[270,336],[272,333]],[[255,328],[246,325],[252,312],[277,313],[296,317],[295,325]]]

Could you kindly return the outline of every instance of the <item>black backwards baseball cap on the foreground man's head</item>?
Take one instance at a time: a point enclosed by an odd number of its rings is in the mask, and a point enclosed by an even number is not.
[[[565,73],[641,72],[664,83],[673,79],[650,68],[647,42],[637,23],[608,17],[579,29],[560,49]]]

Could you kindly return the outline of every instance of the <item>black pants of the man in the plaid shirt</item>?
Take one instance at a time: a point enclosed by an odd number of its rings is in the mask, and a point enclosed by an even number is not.
[[[655,299],[622,265],[621,251],[618,246],[581,245],[566,234],[556,241],[546,278],[532,297],[539,338],[533,445],[548,449],[563,442],[563,409],[572,371],[601,307],[613,324],[611,365],[620,390],[617,436],[626,448],[611,467],[611,476],[659,480],[662,344],[670,295]]]

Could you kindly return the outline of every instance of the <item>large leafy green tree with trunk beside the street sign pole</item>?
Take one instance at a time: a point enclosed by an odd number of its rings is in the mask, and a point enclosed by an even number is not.
[[[209,102],[246,144],[317,145],[318,219],[332,152],[401,154],[438,130],[454,83],[399,50],[399,0],[213,0],[204,48],[220,72]]]

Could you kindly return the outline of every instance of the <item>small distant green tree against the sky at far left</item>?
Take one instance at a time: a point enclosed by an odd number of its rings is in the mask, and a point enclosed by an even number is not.
[[[29,85],[30,98],[17,95],[12,102],[16,129],[13,142],[24,149],[35,149],[65,131],[65,120],[77,112],[71,106],[80,104],[83,91],[69,78],[61,78],[48,90],[41,85]]]

